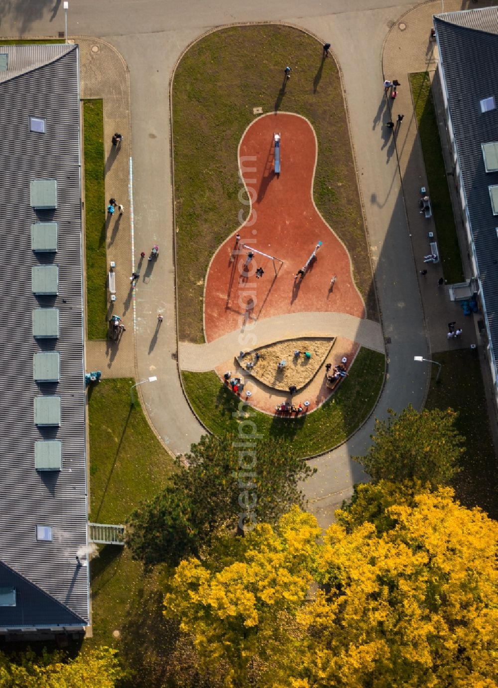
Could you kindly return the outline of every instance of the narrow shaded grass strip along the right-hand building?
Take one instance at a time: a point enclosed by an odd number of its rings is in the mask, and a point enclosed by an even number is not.
[[[450,284],[462,282],[464,281],[462,257],[458,246],[429,72],[410,74],[410,83],[444,278]]]

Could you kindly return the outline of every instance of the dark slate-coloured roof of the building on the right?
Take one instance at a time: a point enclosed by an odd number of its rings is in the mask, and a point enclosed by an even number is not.
[[[495,96],[498,105],[498,8],[438,15],[434,25],[490,344],[498,357],[498,216],[493,215],[488,190],[498,184],[498,172],[486,173],[481,147],[498,140],[498,109],[482,113],[479,107],[479,101],[489,96]]]

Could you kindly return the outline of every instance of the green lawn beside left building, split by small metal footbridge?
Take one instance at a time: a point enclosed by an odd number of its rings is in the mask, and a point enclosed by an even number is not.
[[[122,524],[139,502],[165,486],[172,471],[166,453],[135,398],[134,380],[102,380],[89,399],[90,509],[89,521]],[[122,630],[139,613],[142,597],[155,594],[155,574],[144,577],[142,564],[127,550],[100,548],[91,563],[93,608],[92,645],[117,645],[113,630]]]

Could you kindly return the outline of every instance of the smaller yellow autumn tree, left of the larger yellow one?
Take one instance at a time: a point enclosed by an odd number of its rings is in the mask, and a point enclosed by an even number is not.
[[[164,613],[192,634],[205,665],[224,667],[227,686],[247,685],[247,672],[253,676],[289,642],[320,535],[315,518],[295,507],[277,532],[260,524],[244,538],[221,537],[209,562],[178,566]]]

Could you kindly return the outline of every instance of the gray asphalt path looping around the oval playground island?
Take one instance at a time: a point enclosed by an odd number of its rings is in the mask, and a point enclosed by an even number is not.
[[[188,450],[202,429],[183,398],[177,374],[174,320],[172,182],[169,139],[169,91],[172,69],[185,47],[218,25],[245,21],[285,21],[332,43],[343,71],[361,195],[372,250],[387,344],[388,370],[374,411],[420,408],[427,388],[427,339],[416,268],[409,241],[405,205],[394,142],[385,138],[387,121],[381,66],[383,41],[413,2],[378,0],[69,0],[69,36],[100,36],[115,45],[130,69],[133,144],[135,251],[161,246],[159,270],[137,298],[139,378],[157,374],[142,393],[152,422],[170,450]],[[59,0],[3,0],[2,36],[57,36],[64,30]],[[250,49],[250,46],[248,46]],[[387,75],[392,78],[396,75]],[[181,276],[180,276],[181,279]],[[156,315],[162,311],[161,336],[151,347]],[[313,461],[319,469],[306,495],[321,524],[365,479],[351,460],[370,444],[374,416],[339,449]]]

